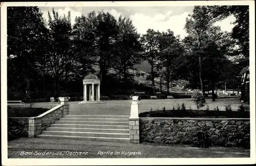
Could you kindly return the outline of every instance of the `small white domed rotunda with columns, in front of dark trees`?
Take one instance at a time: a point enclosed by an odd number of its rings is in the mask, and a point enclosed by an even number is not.
[[[83,79],[83,101],[79,104],[105,103],[100,101],[100,79],[89,74]]]

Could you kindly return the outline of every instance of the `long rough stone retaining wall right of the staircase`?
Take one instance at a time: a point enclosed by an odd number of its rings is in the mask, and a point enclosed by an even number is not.
[[[140,140],[152,143],[198,146],[203,131],[212,146],[250,146],[249,119],[140,118],[140,127]]]

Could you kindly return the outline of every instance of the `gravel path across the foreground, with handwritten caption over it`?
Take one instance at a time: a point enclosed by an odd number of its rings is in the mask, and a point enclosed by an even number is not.
[[[25,152],[31,154],[25,155]],[[47,152],[51,154],[47,155]],[[56,154],[57,152],[58,154]],[[75,154],[75,152],[77,153]],[[118,154],[119,152],[120,154]],[[138,153],[136,154],[136,152]],[[250,150],[243,148],[210,147],[202,149],[181,145],[105,143],[49,138],[19,138],[8,142],[8,158],[221,158],[249,156]]]

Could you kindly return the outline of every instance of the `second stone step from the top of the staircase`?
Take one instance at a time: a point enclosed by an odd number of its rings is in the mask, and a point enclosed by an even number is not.
[[[129,122],[105,122],[105,121],[56,121],[56,124],[79,124],[79,125],[124,125],[129,126]]]

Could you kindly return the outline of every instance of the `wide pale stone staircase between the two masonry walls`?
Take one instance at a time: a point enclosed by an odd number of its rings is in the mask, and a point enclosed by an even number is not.
[[[129,116],[127,115],[65,115],[39,138],[71,138],[93,141],[129,143]]]

